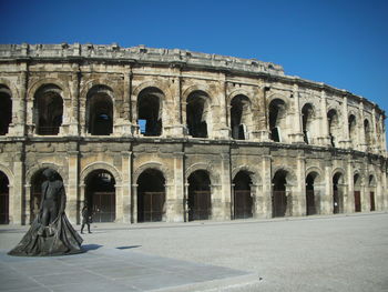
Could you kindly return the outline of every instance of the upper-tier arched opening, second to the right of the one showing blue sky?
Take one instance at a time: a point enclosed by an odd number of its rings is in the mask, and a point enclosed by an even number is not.
[[[231,128],[232,138],[236,140],[246,140],[247,124],[251,120],[251,102],[243,94],[236,95],[231,101]]]

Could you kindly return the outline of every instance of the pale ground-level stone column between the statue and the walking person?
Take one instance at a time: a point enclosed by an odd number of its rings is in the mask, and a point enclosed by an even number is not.
[[[78,192],[79,185],[79,151],[75,142],[69,144],[68,151],[68,192],[67,192],[67,209],[65,212],[70,222],[80,222],[81,200]]]

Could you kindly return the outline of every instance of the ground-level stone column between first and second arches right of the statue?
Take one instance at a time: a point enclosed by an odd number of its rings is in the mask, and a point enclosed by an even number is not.
[[[121,152],[121,173],[123,177],[122,181],[122,204],[118,208],[122,209],[122,222],[131,223],[131,184],[132,184],[132,152]]]

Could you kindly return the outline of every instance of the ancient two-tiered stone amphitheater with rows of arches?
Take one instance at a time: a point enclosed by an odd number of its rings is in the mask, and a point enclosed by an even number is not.
[[[387,211],[385,112],[280,66],[144,46],[0,44],[1,222],[42,171],[73,223]]]

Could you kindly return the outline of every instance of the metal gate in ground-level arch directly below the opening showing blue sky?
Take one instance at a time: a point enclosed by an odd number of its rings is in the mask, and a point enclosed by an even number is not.
[[[156,222],[163,220],[164,192],[143,192],[139,198],[137,222]]]

